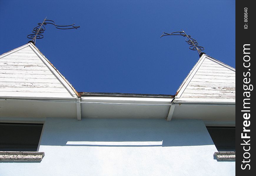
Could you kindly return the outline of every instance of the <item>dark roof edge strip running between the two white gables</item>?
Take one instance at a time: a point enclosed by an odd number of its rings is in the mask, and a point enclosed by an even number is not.
[[[95,96],[134,96],[134,97],[164,97],[173,98],[174,95],[165,94],[130,94],[130,93],[106,93],[106,92],[78,92],[81,96],[95,95]]]

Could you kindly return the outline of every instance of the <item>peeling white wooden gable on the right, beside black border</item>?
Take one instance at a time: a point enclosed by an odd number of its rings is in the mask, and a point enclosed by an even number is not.
[[[175,102],[235,104],[235,69],[203,54],[177,90]]]

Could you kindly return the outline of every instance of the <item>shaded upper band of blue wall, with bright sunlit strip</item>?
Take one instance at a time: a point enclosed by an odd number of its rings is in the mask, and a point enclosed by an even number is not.
[[[47,118],[40,145],[214,145],[201,120]]]

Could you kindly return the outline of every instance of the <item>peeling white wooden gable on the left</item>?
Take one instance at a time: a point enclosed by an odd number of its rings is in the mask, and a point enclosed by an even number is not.
[[[0,56],[0,97],[70,99],[79,94],[32,43]]]

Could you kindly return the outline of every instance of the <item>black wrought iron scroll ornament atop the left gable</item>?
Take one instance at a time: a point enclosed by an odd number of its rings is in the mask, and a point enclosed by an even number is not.
[[[29,34],[27,35],[27,38],[31,38],[32,42],[34,42],[34,44],[36,43],[36,39],[41,39],[41,38],[44,38],[44,35],[42,35],[42,33],[44,33],[44,31],[46,30],[46,28],[44,26],[46,26],[47,24],[52,24],[55,26],[55,28],[57,29],[77,29],[77,28],[80,28],[80,26],[74,26],[74,24],[71,24],[71,25],[65,25],[65,26],[59,26],[59,25],[56,25],[54,21],[52,20],[46,20],[46,18],[44,19],[43,23],[38,23],[32,33],[33,34]]]

